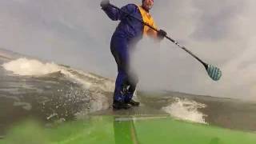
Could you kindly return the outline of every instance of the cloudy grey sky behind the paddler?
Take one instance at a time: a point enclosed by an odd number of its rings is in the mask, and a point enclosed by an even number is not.
[[[117,6],[135,0],[112,0]],[[97,0],[1,0],[0,47],[115,78],[111,21]],[[149,38],[134,51],[139,88],[218,97],[256,98],[254,0],[155,0],[159,28],[204,61],[222,69],[213,82],[203,66],[164,40]]]

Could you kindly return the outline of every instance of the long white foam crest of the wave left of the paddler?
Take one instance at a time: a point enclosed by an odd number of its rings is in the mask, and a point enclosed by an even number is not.
[[[93,74],[82,72],[81,70],[74,70],[64,66],[58,66],[54,62],[43,63],[35,59],[18,58],[16,60],[6,62],[2,66],[6,70],[12,71],[16,75],[41,76],[59,71],[74,82],[82,84],[82,86],[84,86],[86,89],[103,91],[114,90],[114,82],[106,78],[99,78]],[[77,74],[74,74],[73,72],[76,72]],[[86,77],[86,79],[79,77],[78,74],[82,74],[82,76]],[[88,78],[93,78],[94,82],[91,82]]]

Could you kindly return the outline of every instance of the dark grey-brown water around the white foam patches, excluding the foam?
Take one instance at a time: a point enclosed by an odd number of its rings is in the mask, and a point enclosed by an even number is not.
[[[61,72],[42,76],[14,75],[2,67],[2,63],[11,60],[0,55],[0,135],[5,135],[10,126],[25,118],[36,118],[47,125],[52,122],[74,121],[91,112],[110,108],[112,93],[111,90],[104,89],[108,85],[107,79],[70,70],[70,74],[96,86],[85,88]],[[138,92],[140,102],[156,110],[171,106],[177,98],[181,102],[188,100],[205,105],[198,108],[198,112],[205,115],[203,118],[210,125],[256,131],[255,102],[176,92]],[[184,107],[186,105],[185,103]]]

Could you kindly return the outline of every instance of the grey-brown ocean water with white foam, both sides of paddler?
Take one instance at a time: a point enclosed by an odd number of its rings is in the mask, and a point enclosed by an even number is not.
[[[48,126],[110,109],[113,91],[112,79],[0,50],[0,136],[26,118]],[[178,120],[256,131],[255,102],[172,91],[138,91],[136,97]]]

